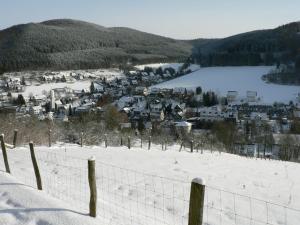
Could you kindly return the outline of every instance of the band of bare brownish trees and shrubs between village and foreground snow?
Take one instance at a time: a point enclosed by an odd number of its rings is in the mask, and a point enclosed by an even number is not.
[[[81,132],[84,135],[85,144],[96,145],[101,144],[105,139],[109,140],[112,145],[120,144],[120,137],[131,136],[137,134],[133,129],[120,130],[120,123],[128,122],[126,114],[118,112],[113,106],[108,106],[102,116],[98,114],[81,114],[79,117],[70,118],[69,122],[59,121],[39,121],[35,117],[15,118],[14,114],[0,114],[0,130],[6,134],[7,140],[12,140],[13,129],[19,130],[19,144],[27,144],[30,140],[37,144],[48,143],[48,132],[51,129],[52,140],[79,143]],[[216,148],[219,151],[229,153],[236,152],[236,144],[259,143],[259,155],[266,156],[266,151],[275,146],[275,140],[272,135],[271,128],[268,124],[262,123],[257,126],[255,123],[247,123],[245,130],[239,130],[238,126],[233,122],[215,122],[212,124],[211,131],[207,131],[202,135],[187,134],[185,132],[178,133],[173,127],[167,131],[156,126],[147,132],[143,126],[143,121],[138,123],[136,129],[139,133],[144,134],[144,139],[150,135],[153,142],[158,144],[168,143],[173,145],[176,141],[194,140],[195,147],[200,148]],[[106,134],[106,135],[105,135]],[[138,136],[138,139],[141,136]],[[133,138],[134,139],[134,138]],[[9,141],[8,141],[9,142]],[[300,154],[299,140],[290,134],[281,135],[276,142],[279,145],[279,157],[282,160],[297,160]]]

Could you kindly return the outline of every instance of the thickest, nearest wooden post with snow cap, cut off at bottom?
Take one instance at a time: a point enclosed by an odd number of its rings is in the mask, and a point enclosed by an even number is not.
[[[189,223],[188,225],[202,225],[204,209],[205,183],[195,178],[191,184]]]

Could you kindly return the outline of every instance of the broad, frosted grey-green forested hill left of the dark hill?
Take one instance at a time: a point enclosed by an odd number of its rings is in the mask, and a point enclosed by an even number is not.
[[[0,31],[0,70],[76,69],[126,63],[178,61],[191,54],[187,42],[129,28],[106,28],[60,19]]]

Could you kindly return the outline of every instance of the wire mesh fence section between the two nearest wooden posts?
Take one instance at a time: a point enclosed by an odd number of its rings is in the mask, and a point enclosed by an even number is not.
[[[98,215],[109,224],[187,224],[190,183],[102,162],[96,171]]]

